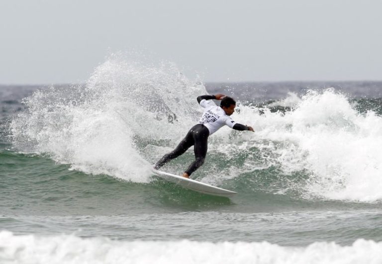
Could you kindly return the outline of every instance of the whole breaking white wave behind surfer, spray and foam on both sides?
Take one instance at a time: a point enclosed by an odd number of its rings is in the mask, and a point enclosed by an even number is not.
[[[200,81],[172,63],[154,66],[113,54],[85,85],[25,98],[26,110],[12,120],[10,137],[15,149],[47,153],[74,170],[150,182],[151,164],[197,122],[195,98],[205,93]],[[290,111],[238,102],[232,118],[255,133],[216,132],[193,177],[304,198],[382,199],[381,116],[361,113],[334,89],[289,94],[280,104]],[[192,159],[186,153],[164,169],[179,174]]]

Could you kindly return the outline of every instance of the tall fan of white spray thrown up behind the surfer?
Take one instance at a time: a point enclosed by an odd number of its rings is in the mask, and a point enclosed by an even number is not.
[[[27,111],[10,126],[13,144],[86,173],[147,182],[157,157],[140,152],[140,138],[179,141],[200,111],[195,98],[202,93],[204,86],[174,64],[145,65],[112,54],[85,86],[26,98]]]

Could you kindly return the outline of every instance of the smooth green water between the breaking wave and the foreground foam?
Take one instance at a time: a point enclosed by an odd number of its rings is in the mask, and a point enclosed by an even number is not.
[[[379,202],[277,194],[277,187],[270,188],[277,178],[273,169],[259,172],[259,178],[268,178],[262,185],[251,180],[253,175],[227,181],[221,186],[239,192],[228,199],[156,178],[143,184],[71,171],[48,157],[4,148],[0,157],[0,224],[15,234],[268,241],[287,246],[316,241],[349,245],[360,237],[382,237]]]

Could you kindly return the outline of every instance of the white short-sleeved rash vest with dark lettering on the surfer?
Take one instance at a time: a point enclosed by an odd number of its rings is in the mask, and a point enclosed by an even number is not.
[[[224,110],[215,105],[214,102],[210,100],[202,99],[199,103],[201,107],[204,108],[204,113],[199,120],[199,124],[203,124],[209,131],[209,135],[218,131],[224,125],[227,125],[231,129],[236,124]]]

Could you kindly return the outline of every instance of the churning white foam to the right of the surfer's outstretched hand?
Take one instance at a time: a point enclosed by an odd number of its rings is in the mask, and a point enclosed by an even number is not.
[[[240,134],[240,140],[251,142],[247,147],[260,148],[286,174],[309,173],[303,186],[308,193],[341,200],[382,199],[382,118],[372,111],[358,113],[346,96],[333,89],[309,91],[294,111],[258,115],[255,108],[241,106],[233,118],[256,131]],[[236,143],[244,144],[240,140]]]

